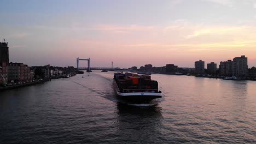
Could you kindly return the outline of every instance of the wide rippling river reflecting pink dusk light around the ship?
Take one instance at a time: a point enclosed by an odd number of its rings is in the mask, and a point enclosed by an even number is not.
[[[256,81],[153,74],[163,98],[129,104],[112,77],[0,92],[0,143],[256,143]]]

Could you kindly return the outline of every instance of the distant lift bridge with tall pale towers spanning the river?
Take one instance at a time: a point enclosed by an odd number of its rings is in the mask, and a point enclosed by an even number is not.
[[[79,67],[79,61],[87,61],[88,62],[88,67]],[[88,59],[80,59],[79,57],[77,58],[77,70],[86,70],[90,72],[91,70],[118,70],[120,68],[113,68],[113,62],[112,62],[112,68],[103,68],[103,67],[95,67],[91,68],[91,58]]]

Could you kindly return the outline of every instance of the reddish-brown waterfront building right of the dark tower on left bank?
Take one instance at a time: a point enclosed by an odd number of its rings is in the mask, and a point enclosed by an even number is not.
[[[9,63],[9,82],[11,81],[27,81],[33,79],[31,69],[24,63]]]

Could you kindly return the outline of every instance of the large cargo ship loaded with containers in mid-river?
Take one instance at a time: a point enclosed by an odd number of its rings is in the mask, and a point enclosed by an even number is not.
[[[162,97],[158,81],[151,80],[150,75],[115,73],[113,85],[118,98],[133,103],[148,103]]]

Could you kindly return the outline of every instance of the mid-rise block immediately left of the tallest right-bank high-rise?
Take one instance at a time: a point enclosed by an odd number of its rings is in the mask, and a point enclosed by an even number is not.
[[[232,76],[232,61],[228,60],[220,62],[219,64],[219,75],[221,76]]]

